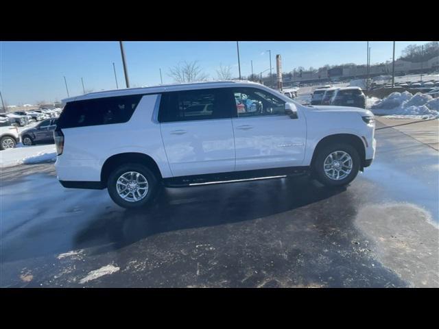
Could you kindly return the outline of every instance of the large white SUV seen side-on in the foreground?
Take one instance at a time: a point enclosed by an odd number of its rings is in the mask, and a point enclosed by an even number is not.
[[[375,121],[361,108],[302,106],[252,82],[204,82],[64,99],[54,137],[67,188],[108,188],[125,208],[161,186],[311,171],[351,182],[375,156]]]

